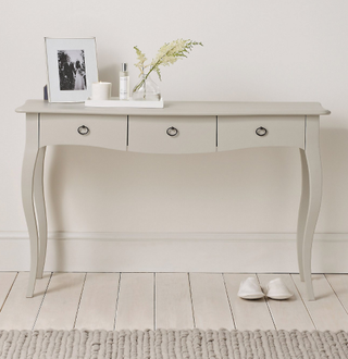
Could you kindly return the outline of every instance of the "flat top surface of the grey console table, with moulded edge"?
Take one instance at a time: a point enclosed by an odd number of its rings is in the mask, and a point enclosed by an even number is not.
[[[324,115],[330,114],[319,102],[223,102],[165,101],[163,109],[91,108],[85,103],[52,103],[27,100],[16,109],[20,113],[70,113],[103,115]]]

